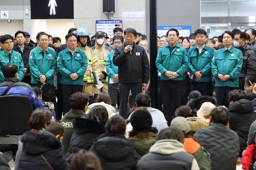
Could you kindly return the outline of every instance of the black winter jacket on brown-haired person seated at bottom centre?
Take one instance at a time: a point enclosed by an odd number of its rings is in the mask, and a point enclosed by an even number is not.
[[[103,170],[136,169],[137,152],[121,134],[105,133],[100,135],[90,151],[99,157]]]

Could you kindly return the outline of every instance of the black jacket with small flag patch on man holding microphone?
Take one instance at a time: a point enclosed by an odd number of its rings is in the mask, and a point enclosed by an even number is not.
[[[118,66],[119,83],[148,83],[149,61],[143,47],[133,43],[133,49],[124,53],[127,44],[115,49],[113,63]]]

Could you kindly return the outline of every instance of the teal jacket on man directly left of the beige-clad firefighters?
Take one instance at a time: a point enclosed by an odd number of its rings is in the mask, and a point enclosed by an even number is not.
[[[57,58],[57,66],[61,74],[61,83],[65,85],[83,85],[84,72],[87,69],[88,61],[83,50],[76,48],[72,56],[68,48],[61,51]],[[78,78],[72,80],[70,74],[76,73]]]

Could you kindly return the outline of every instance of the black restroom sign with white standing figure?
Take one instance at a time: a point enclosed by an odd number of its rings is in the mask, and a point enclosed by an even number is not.
[[[74,0],[30,0],[31,19],[74,19]]]

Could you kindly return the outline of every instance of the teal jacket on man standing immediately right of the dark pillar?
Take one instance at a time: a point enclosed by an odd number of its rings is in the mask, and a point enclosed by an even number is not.
[[[173,47],[172,53],[170,53],[170,46],[166,45],[158,50],[156,58],[156,67],[161,72],[161,80],[182,81],[183,74],[188,68],[187,51],[181,47],[178,43]],[[179,74],[174,79],[169,79],[165,76],[166,71],[173,71]]]

